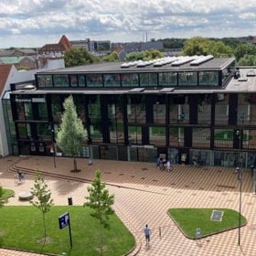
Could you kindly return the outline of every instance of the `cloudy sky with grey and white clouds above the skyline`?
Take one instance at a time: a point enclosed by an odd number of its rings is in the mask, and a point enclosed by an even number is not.
[[[1,0],[0,48],[256,36],[256,0]]]

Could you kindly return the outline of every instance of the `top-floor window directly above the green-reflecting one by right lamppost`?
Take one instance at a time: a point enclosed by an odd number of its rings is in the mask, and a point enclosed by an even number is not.
[[[229,123],[229,95],[219,93],[216,95],[215,124]]]

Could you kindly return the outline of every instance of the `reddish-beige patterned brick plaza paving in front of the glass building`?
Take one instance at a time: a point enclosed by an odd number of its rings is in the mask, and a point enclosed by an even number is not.
[[[12,188],[16,195],[30,189],[34,176],[27,175],[24,185],[15,186],[13,173],[6,171],[16,157],[0,159],[0,183]],[[56,158],[56,168],[52,157],[29,157],[21,159],[17,165],[39,169],[67,176],[93,179],[94,171],[101,170],[102,181],[114,194],[114,209],[123,223],[129,228],[137,241],[132,255],[159,256],[208,256],[208,255],[255,255],[256,251],[256,197],[252,194],[251,172],[244,170],[242,183],[241,214],[248,224],[241,228],[240,246],[239,230],[233,229],[199,241],[188,240],[175,223],[168,217],[168,208],[233,208],[239,209],[239,182],[233,169],[221,167],[193,167],[175,165],[171,173],[161,172],[152,163],[117,162],[77,159],[79,173],[71,173],[71,158]],[[67,205],[72,197],[74,205],[82,205],[89,183],[67,181],[46,176],[48,187],[56,205]],[[10,205],[26,205],[16,197],[9,200]],[[144,225],[152,229],[150,248],[145,246]],[[199,228],[199,227],[198,227]],[[161,237],[159,230],[161,229]],[[196,230],[195,230],[196,231]],[[37,255],[19,251],[0,250],[0,255]]]

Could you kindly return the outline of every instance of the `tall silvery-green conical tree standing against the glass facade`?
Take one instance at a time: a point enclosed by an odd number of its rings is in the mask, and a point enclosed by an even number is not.
[[[73,157],[74,171],[78,171],[76,156],[80,154],[87,138],[87,132],[78,118],[72,96],[64,101],[64,112],[61,116],[57,145],[66,154]]]

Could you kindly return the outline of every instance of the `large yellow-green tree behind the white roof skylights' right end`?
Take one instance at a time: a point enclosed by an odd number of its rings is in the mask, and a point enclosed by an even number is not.
[[[214,41],[204,37],[193,37],[185,42],[181,55],[208,55],[214,57],[231,57],[233,50],[221,41]]]

